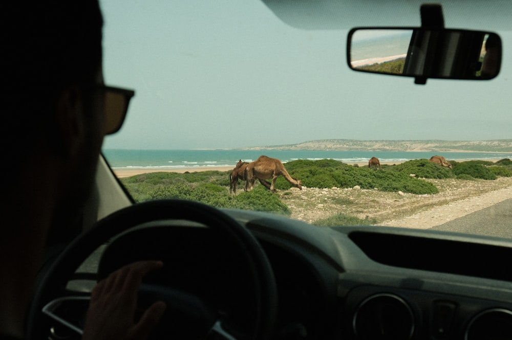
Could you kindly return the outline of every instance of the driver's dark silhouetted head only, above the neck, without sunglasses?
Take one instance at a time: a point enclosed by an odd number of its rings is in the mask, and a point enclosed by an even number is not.
[[[47,155],[63,162],[62,171],[88,176],[103,140],[101,93],[94,87],[103,82],[98,1],[14,1],[1,12],[0,139],[3,159],[16,167],[0,167],[2,178],[16,180],[20,167],[37,167]]]

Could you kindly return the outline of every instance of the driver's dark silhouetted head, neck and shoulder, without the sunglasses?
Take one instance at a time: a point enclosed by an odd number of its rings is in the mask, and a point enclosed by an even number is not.
[[[98,0],[0,10],[0,337],[23,334],[48,232],[56,220],[69,225],[92,189],[104,135],[102,26]]]

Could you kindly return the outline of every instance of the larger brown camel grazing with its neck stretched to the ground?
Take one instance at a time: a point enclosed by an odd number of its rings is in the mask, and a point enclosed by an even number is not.
[[[290,176],[288,171],[286,171],[283,163],[281,163],[281,161],[276,158],[270,158],[262,155],[254,162],[249,163],[245,169],[245,172],[245,191],[251,191],[253,189],[254,180],[256,180],[256,178],[258,178],[260,181],[262,179],[272,178],[270,191],[275,192],[275,181],[281,175],[283,175],[293,187],[302,190],[301,181]]]

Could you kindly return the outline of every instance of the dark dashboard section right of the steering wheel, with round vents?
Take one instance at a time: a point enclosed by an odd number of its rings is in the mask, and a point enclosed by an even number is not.
[[[279,315],[289,316],[278,324],[282,333],[295,325],[293,338],[512,336],[507,240],[228,213],[264,246],[279,278]]]

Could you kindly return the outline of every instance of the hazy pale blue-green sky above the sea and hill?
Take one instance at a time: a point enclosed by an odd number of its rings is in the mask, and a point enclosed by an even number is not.
[[[105,82],[136,91],[105,148],[512,139],[509,32],[498,32],[505,58],[498,78],[421,86],[351,71],[350,27],[292,28],[259,0],[100,2]],[[419,26],[419,8],[401,21],[374,12],[380,25]],[[446,26],[462,27],[450,13]]]

